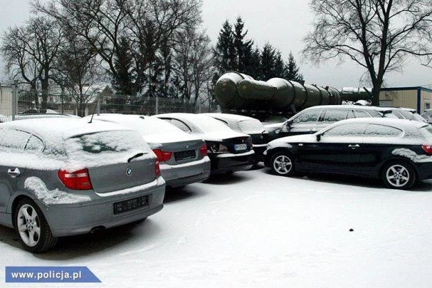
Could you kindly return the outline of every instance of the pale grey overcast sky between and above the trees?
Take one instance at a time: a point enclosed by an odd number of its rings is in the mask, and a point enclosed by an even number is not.
[[[28,19],[28,0],[0,0],[0,33],[8,26],[16,26]],[[359,83],[364,70],[347,60],[344,64],[328,61],[319,67],[303,63],[300,51],[303,37],[312,30],[313,15],[306,0],[203,0],[203,27],[216,43],[223,22],[234,23],[241,16],[248,36],[262,48],[270,43],[288,59],[290,50],[308,84],[320,86],[364,86]],[[0,62],[1,63],[1,62]],[[3,73],[0,73],[0,75]],[[386,86],[425,86],[432,84],[432,69],[421,66],[417,60],[408,60],[404,73],[391,73]]]

